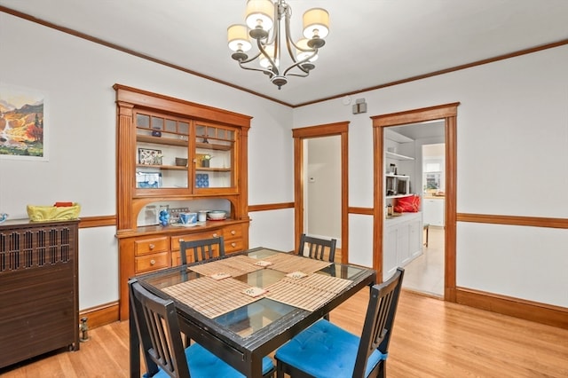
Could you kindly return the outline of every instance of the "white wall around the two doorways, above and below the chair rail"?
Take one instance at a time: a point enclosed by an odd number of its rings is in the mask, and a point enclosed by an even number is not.
[[[352,96],[366,98],[367,114],[351,114],[342,98],[296,108],[294,125],[351,122],[349,204],[372,207],[369,117],[460,102],[457,211],[568,218],[567,65],[568,46],[557,47]],[[350,217],[352,263],[370,264],[372,223]],[[458,231],[458,286],[568,307],[568,230],[458,224]]]

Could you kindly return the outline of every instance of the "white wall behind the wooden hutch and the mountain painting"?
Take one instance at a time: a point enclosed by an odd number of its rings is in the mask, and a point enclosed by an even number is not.
[[[253,116],[249,203],[293,201],[292,109],[0,12],[0,83],[47,94],[49,161],[0,159],[0,211],[27,218],[26,205],[76,201],[81,217],[116,214],[114,83]],[[239,68],[235,67],[238,72]],[[268,84],[270,85],[270,84]],[[293,249],[288,213],[253,214],[250,245]],[[267,226],[278,237],[268,238]],[[80,309],[118,299],[114,227],[82,229]]]

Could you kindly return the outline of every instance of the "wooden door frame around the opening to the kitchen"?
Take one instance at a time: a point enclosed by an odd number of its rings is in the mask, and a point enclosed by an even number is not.
[[[384,172],[385,153],[384,133],[386,128],[414,123],[441,120],[444,124],[446,141],[446,208],[444,234],[444,299],[456,301],[455,295],[455,247],[456,247],[456,128],[457,106],[459,103],[431,106],[395,114],[383,114],[371,117],[374,128],[375,144],[375,206],[374,206],[374,260],[373,267],[377,276],[383,278],[383,226],[384,226]],[[415,190],[415,189],[414,189]]]

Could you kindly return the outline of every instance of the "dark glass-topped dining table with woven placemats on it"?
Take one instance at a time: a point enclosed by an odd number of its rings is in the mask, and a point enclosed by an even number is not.
[[[252,248],[133,278],[175,303],[181,331],[247,377],[262,359],[366,286],[373,269]],[[140,377],[130,309],[130,376]]]

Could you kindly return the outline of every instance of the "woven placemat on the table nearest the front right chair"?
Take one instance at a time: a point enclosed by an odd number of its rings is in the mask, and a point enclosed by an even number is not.
[[[266,287],[266,297],[307,311],[316,311],[351,283],[350,280],[323,274],[312,274],[302,279],[285,277]]]

